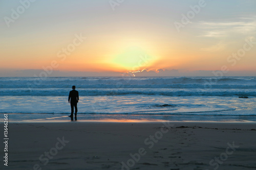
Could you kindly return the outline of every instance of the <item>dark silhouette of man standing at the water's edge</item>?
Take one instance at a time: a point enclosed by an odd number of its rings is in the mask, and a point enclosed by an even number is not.
[[[79,95],[78,91],[75,90],[76,86],[72,86],[72,90],[69,92],[69,103],[71,106],[71,120],[73,120],[73,113],[74,113],[74,107],[75,107],[75,119],[76,119],[76,114],[77,114],[77,103],[79,100]]]

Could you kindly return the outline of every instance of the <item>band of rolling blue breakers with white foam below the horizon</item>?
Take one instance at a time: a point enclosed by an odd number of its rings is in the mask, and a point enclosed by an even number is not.
[[[0,95],[66,95],[76,85],[80,95],[149,94],[168,96],[256,96],[255,77],[162,78],[0,78]]]

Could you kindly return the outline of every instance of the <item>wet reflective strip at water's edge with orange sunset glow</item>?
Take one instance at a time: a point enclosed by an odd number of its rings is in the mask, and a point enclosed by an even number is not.
[[[68,114],[47,113],[2,113],[8,114],[10,123],[71,122]],[[4,116],[0,118],[3,122]],[[256,115],[166,115],[166,114],[78,114],[77,122],[251,122]]]

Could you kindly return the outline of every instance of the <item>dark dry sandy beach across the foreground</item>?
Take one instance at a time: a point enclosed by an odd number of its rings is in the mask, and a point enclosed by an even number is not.
[[[5,169],[256,169],[255,123],[10,123]]]

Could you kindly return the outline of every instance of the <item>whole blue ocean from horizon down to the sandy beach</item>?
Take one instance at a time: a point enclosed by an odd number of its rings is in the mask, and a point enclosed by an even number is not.
[[[0,113],[9,122],[70,121],[73,85],[78,121],[256,121],[256,77],[2,77]]]

